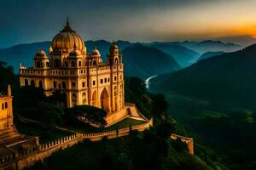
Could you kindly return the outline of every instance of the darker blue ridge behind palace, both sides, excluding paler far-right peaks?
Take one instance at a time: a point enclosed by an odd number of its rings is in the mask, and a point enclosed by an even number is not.
[[[90,51],[96,47],[102,54],[102,59],[104,61],[107,60],[106,55],[108,53],[111,42],[99,40],[87,41],[84,43],[87,48],[87,53],[90,53]],[[171,55],[165,54],[156,48],[143,48],[143,46],[139,43],[131,43],[120,40],[117,43],[119,45],[119,52],[122,52],[123,49],[128,48],[125,50],[124,62],[125,72],[129,76],[137,76],[145,79],[147,77],[154,76],[155,74],[177,71],[177,69],[181,68]],[[13,65],[15,72],[17,73],[19,64],[25,65],[27,67],[32,66],[33,57],[38,52],[38,50],[44,49],[44,51],[48,53],[50,45],[51,42],[33,42],[27,44],[19,44],[11,48],[4,48],[0,50],[0,60],[7,62],[8,65]],[[130,51],[131,48],[135,50],[133,53]],[[131,56],[131,54],[133,54],[133,56]],[[147,61],[144,62],[145,60]],[[148,64],[143,65],[143,63]],[[152,71],[152,73],[150,73],[150,71]]]

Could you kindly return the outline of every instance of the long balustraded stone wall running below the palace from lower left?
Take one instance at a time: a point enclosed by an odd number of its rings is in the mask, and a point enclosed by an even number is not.
[[[153,126],[152,118],[148,122],[131,127],[131,130],[141,132],[151,126]],[[102,133],[76,133],[71,136],[56,139],[55,141],[51,141],[47,144],[40,144],[38,149],[23,150],[16,153],[15,156],[0,157],[0,169],[23,169],[25,167],[31,167],[36,161],[44,160],[55,151],[64,150],[67,147],[82,142],[84,139],[99,141],[104,137],[107,137],[107,139],[113,139],[128,135],[129,133],[130,127],[121,128],[118,131],[113,130]]]

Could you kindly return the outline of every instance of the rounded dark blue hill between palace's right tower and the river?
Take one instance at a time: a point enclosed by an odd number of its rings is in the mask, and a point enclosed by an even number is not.
[[[125,75],[143,79],[166,72],[177,71],[180,66],[171,55],[157,48],[142,45],[125,48],[122,51],[125,63]]]

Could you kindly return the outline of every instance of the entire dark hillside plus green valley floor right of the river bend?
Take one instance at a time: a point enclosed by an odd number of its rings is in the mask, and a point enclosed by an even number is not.
[[[256,45],[202,59],[151,82],[169,113],[230,169],[256,168]]]

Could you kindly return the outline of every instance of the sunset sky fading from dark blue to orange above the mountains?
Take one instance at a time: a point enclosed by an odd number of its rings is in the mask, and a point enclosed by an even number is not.
[[[51,40],[67,16],[86,40],[256,42],[255,0],[0,0],[0,48]]]

